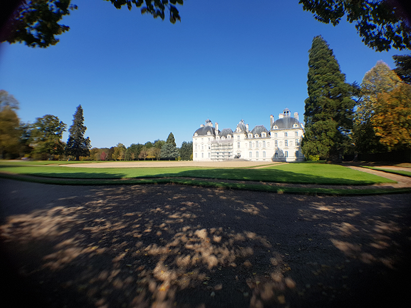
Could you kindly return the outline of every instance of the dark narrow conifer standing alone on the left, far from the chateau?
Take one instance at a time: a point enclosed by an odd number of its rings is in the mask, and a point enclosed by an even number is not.
[[[87,127],[83,123],[83,108],[79,105],[76,113],[73,114],[73,124],[68,130],[68,140],[65,147],[66,155],[74,156],[76,160],[79,160],[80,156],[90,155],[90,139],[84,138]]]

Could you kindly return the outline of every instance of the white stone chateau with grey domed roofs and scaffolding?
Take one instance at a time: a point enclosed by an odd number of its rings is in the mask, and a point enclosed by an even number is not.
[[[301,140],[304,125],[298,121],[298,113],[291,117],[288,108],[274,121],[270,115],[270,130],[256,125],[249,130],[241,120],[235,130],[218,129],[218,123],[207,119],[193,135],[194,161],[221,161],[241,158],[250,161],[303,161]]]

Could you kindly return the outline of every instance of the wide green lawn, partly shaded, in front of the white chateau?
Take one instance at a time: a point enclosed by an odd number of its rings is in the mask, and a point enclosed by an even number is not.
[[[136,179],[136,178],[204,178],[275,183],[370,185],[395,183],[382,177],[352,170],[340,165],[324,163],[295,163],[251,168],[81,168],[64,166],[33,166],[0,162],[0,171],[37,177],[65,179]]]

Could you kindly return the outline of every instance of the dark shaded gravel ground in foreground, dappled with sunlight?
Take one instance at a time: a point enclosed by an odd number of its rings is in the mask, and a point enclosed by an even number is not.
[[[3,300],[408,307],[410,200],[0,179]]]

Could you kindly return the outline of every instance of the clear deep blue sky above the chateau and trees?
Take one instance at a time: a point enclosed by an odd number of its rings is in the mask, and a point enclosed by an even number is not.
[[[0,89],[20,102],[23,122],[53,114],[69,127],[81,104],[93,147],[165,140],[171,131],[180,146],[207,118],[220,129],[240,119],[268,127],[285,107],[302,121],[308,50],[319,34],[347,82],[409,53],[375,52],[353,24],[319,23],[297,0],[186,0],[175,25],[102,0],[72,3],[79,9],[64,18],[70,30],[57,45],[0,46]]]

